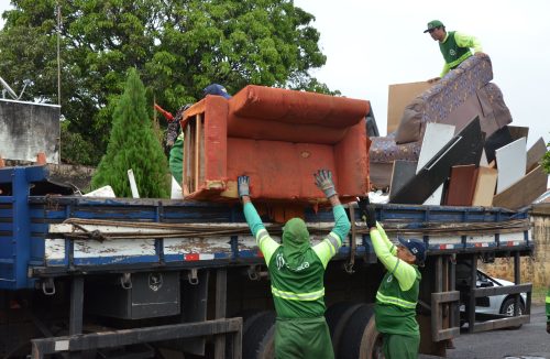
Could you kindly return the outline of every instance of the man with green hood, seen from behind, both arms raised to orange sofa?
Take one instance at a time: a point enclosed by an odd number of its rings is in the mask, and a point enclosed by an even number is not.
[[[324,270],[350,231],[350,220],[340,204],[330,171],[319,170],[317,186],[324,193],[334,215],[334,228],[311,247],[306,224],[300,218],[288,220],[279,244],[265,229],[250,199],[250,178],[238,180],[239,197],[252,235],[256,239],[272,281],[272,295],[277,313],[275,358],[334,358],[324,320]]]

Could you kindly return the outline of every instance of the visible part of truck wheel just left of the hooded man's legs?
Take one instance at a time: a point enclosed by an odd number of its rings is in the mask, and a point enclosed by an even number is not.
[[[243,359],[270,359],[275,356],[275,313],[262,312],[254,316],[242,338]]]

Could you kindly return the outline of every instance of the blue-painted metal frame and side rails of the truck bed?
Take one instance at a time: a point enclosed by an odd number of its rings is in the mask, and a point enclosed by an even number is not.
[[[88,198],[77,196],[30,196],[32,182],[44,181],[47,171],[42,166],[10,167],[0,170],[0,183],[9,183],[13,195],[0,196],[0,289],[24,289],[33,285],[28,279],[29,266],[61,268],[67,273],[79,266],[105,265],[189,265],[183,254],[165,254],[162,239],[155,240],[154,255],[135,257],[74,257],[73,241],[65,241],[65,258],[45,262],[45,238],[50,224],[59,224],[67,218],[91,218],[108,220],[130,220],[150,222],[245,222],[242,208],[235,205],[215,205],[182,200],[133,199],[133,198]],[[484,207],[448,207],[421,205],[377,205],[377,218],[384,222],[398,222],[408,229],[421,229],[426,222],[495,222],[509,219],[527,218],[527,213],[515,213],[502,208]],[[360,220],[359,210],[355,220]],[[305,219],[309,222],[330,222],[332,210],[306,210]],[[525,243],[529,246],[527,231]],[[358,243],[358,254],[372,254],[373,248],[369,235]],[[437,252],[437,246],[430,244],[430,237],[424,237],[430,251]],[[525,244],[522,243],[522,244]],[[498,237],[496,240],[498,246]],[[458,248],[460,247],[460,248]],[[453,251],[466,249],[468,240],[463,237],[461,244]],[[475,250],[475,249],[474,249]],[[487,250],[486,248],[484,250]],[[444,251],[444,250],[443,250]],[[449,252],[449,251],[448,251]],[[212,254],[212,253],[211,253]],[[349,248],[343,247],[337,258],[345,258]],[[213,253],[213,260],[196,261],[196,263],[239,263],[262,261],[257,250],[240,250],[238,236],[232,236],[227,252]],[[184,263],[185,262],[185,263]],[[202,264],[199,264],[202,265]]]

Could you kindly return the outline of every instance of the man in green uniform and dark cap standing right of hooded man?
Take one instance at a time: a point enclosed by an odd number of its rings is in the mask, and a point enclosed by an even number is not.
[[[422,279],[418,266],[426,260],[426,246],[418,239],[402,238],[399,246],[394,246],[376,221],[374,207],[360,202],[360,209],[376,257],[387,270],[374,306],[376,329],[383,335],[384,356],[387,359],[417,358],[420,331],[416,306]]]

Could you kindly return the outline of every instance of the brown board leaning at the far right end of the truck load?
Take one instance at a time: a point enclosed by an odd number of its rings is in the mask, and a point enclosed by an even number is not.
[[[521,180],[497,194],[493,206],[519,209],[530,205],[547,191],[548,175],[541,165],[525,175]]]

